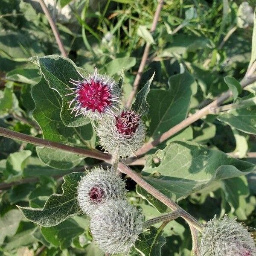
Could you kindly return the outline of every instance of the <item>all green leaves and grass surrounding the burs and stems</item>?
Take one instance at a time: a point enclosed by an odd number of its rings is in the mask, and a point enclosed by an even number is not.
[[[0,0],[0,126],[100,149],[89,120],[70,114],[70,99],[64,96],[68,81],[78,78],[76,70],[87,74],[94,67],[118,81],[123,69],[125,100],[149,43],[139,88],[155,72],[144,116],[146,141],[228,89],[234,100],[225,103],[234,105],[157,145],[147,153],[145,166],[132,169],[203,224],[215,214],[227,213],[256,228],[256,85],[241,90],[238,82],[256,57],[256,32],[253,13],[250,18],[239,16],[241,2],[166,0],[157,29],[150,33],[156,0],[57,1],[57,11],[50,11],[67,60],[57,56],[58,46],[38,3]],[[254,8],[256,2],[249,5]],[[148,92],[148,87],[144,90]],[[146,102],[140,104],[147,108]],[[134,108],[139,110],[140,104]],[[155,163],[155,158],[160,162]],[[89,221],[81,215],[74,190],[84,166],[90,169],[98,164],[105,163],[0,137],[0,256],[103,255],[92,241]],[[128,201],[143,210],[146,220],[169,211],[123,178]],[[147,256],[190,255],[191,235],[182,219],[163,230],[159,227],[141,234],[130,255],[140,255],[136,248]]]

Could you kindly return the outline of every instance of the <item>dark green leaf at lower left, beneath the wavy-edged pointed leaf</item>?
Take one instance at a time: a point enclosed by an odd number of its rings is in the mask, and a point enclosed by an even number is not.
[[[41,233],[44,238],[55,247],[60,246],[61,249],[70,247],[73,238],[83,232],[84,229],[71,218],[57,226],[41,228]]]

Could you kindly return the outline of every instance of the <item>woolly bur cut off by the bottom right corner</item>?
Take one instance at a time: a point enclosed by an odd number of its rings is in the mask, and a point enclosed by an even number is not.
[[[201,238],[201,256],[256,256],[256,247],[247,228],[224,216],[216,215],[204,227]]]

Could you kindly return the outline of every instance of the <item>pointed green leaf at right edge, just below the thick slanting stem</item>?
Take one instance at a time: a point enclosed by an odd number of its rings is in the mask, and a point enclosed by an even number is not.
[[[220,113],[217,119],[248,134],[256,134],[256,106]]]

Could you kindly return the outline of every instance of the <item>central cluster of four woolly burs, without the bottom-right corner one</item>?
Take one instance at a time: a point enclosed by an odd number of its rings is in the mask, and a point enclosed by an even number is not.
[[[80,73],[79,73],[80,74]],[[81,74],[80,74],[81,75]],[[102,148],[118,162],[140,148],[144,142],[145,125],[141,115],[131,109],[120,109],[121,92],[108,76],[97,73],[82,80],[73,80],[69,88],[74,95],[72,112],[92,120]],[[126,201],[125,182],[117,165],[104,170],[94,168],[81,178],[77,187],[81,210],[90,216],[94,241],[105,253],[128,253],[143,231],[143,215]]]

